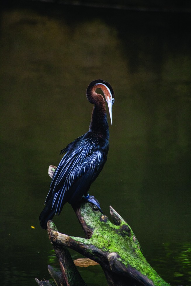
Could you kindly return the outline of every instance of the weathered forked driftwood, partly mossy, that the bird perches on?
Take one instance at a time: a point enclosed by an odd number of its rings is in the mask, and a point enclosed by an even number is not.
[[[54,166],[50,166],[50,170],[53,171]],[[48,221],[47,224],[48,236],[58,257],[64,281],[64,284],[58,285],[85,285],[82,279],[74,284],[69,281],[71,272],[76,273],[76,270],[75,266],[71,268],[71,264],[67,262],[68,253],[63,257],[65,247],[98,262],[105,273],[108,285],[169,285],[148,264],[130,226],[111,206],[110,214],[114,224],[97,207],[84,200],[73,206],[73,209],[86,238],[67,236],[59,233],[53,222]],[[67,276],[67,272],[70,275]]]

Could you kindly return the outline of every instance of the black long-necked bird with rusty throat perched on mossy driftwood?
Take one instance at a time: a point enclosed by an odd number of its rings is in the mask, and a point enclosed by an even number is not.
[[[112,124],[113,88],[107,81],[94,80],[86,89],[88,101],[94,104],[89,130],[60,151],[60,154],[65,155],[53,174],[45,200],[46,206],[39,216],[43,229],[47,228],[48,220],[52,220],[55,214],[60,214],[67,202],[75,205],[84,198],[102,212],[98,200],[88,194],[92,182],[103,169],[109,149],[105,100],[103,95],[96,92],[97,89],[101,89],[105,96]]]

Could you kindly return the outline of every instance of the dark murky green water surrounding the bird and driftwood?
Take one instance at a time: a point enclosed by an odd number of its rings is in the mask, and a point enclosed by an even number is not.
[[[129,223],[159,275],[191,285],[190,15],[56,7],[1,12],[0,284],[50,278],[57,262],[38,221],[48,166],[88,130],[85,90],[101,78],[115,92],[113,126],[90,193]],[[54,222],[83,236],[70,205]],[[106,285],[100,266],[79,271]]]

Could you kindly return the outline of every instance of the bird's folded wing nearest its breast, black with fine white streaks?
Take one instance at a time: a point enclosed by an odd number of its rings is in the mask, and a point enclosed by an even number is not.
[[[52,207],[55,213],[61,212],[63,205],[69,200],[75,203],[94,181],[94,177],[103,168],[103,153],[99,150],[93,151],[82,162],[75,165],[67,177],[62,176],[56,185]],[[60,177],[60,176],[59,176]]]

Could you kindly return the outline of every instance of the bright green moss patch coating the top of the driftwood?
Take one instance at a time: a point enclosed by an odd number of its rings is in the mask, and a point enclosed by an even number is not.
[[[116,252],[119,255],[117,259],[126,268],[128,266],[135,268],[142,275],[152,280],[154,285],[169,285],[148,264],[141,252],[136,236],[124,220],[121,221],[120,225],[114,225],[99,211],[92,211],[92,206],[89,203],[82,204],[80,210],[88,227],[93,229],[93,235],[90,239],[71,238],[85,245],[94,245],[106,255]],[[89,252],[95,257],[91,248],[89,248]]]

